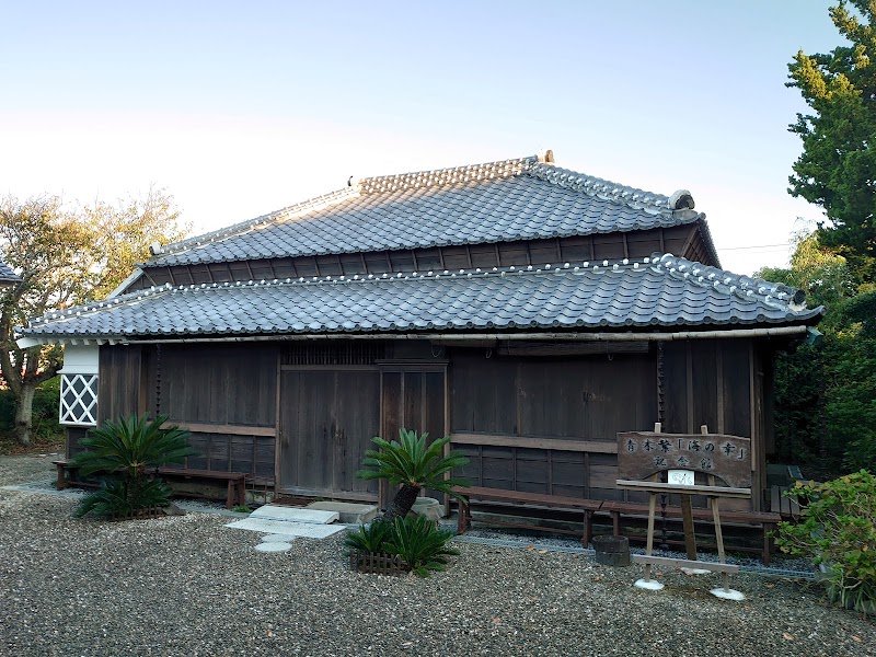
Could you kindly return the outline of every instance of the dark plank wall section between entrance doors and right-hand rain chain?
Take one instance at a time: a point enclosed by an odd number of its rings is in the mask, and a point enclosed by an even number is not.
[[[488,357],[487,357],[488,356]],[[453,449],[475,485],[618,499],[616,434],[657,416],[654,353],[502,357],[453,349]]]

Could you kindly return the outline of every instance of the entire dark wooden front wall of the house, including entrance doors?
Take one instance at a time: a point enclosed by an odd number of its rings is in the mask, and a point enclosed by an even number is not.
[[[616,434],[706,425],[752,438],[753,487],[765,485],[772,345],[698,339],[586,356],[384,347],[362,351],[369,364],[301,366],[281,362],[303,347],[290,355],[280,343],[104,346],[99,414],[168,414],[200,451],[189,466],[279,473],[283,487],[318,495],[376,499],[355,471],[372,436],[402,426],[449,434],[475,485],[635,499],[614,486]]]

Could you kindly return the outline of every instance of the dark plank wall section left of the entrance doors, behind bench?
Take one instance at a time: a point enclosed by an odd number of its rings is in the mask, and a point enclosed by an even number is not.
[[[163,414],[192,431],[187,466],[273,479],[277,357],[269,343],[102,346],[100,422]]]

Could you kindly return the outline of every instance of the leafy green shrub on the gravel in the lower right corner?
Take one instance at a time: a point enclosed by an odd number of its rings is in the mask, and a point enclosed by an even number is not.
[[[800,520],[780,523],[776,544],[825,565],[832,601],[876,613],[876,476],[861,470],[826,484],[798,483],[789,496],[800,503]]]

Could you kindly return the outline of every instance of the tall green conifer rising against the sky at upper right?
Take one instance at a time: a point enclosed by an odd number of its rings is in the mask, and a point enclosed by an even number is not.
[[[787,87],[800,90],[812,114],[789,130],[803,140],[788,192],[821,206],[819,241],[849,260],[860,283],[876,277],[876,0],[846,0],[830,16],[849,45],[829,54],[800,50]]]

